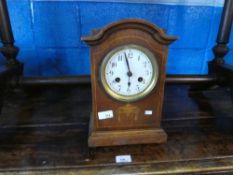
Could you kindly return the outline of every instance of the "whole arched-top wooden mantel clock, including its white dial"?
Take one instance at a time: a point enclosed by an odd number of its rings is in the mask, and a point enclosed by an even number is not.
[[[91,49],[90,147],[163,143],[161,113],[168,45],[176,37],[124,19],[82,38]]]

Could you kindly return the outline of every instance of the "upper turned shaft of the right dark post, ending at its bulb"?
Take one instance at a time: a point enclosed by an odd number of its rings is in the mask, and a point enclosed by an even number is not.
[[[233,0],[225,0],[222,18],[219,25],[217,44],[213,47],[215,58],[214,63],[223,64],[224,56],[229,52],[227,44],[229,42],[233,19]]]

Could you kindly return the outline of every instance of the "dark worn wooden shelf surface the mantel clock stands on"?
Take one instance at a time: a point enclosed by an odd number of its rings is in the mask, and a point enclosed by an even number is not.
[[[233,172],[229,90],[165,89],[168,142],[88,149],[89,85],[15,90],[0,117],[3,174],[205,174]],[[130,154],[133,162],[116,164]]]

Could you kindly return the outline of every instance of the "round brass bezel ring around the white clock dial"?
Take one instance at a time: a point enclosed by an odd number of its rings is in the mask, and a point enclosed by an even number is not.
[[[144,91],[142,91],[138,94],[135,94],[135,95],[126,96],[126,95],[118,94],[117,92],[115,92],[111,89],[111,87],[108,85],[108,83],[105,79],[105,69],[106,69],[106,65],[107,65],[108,61],[116,52],[123,50],[123,49],[140,50],[145,55],[147,55],[147,57],[149,58],[149,60],[151,61],[151,64],[152,64],[153,74],[152,74],[152,79],[151,79],[150,84],[146,87],[146,89]],[[137,100],[142,99],[145,96],[147,96],[154,89],[155,85],[158,82],[158,78],[159,78],[159,66],[158,66],[158,62],[157,62],[155,55],[149,49],[142,47],[142,46],[139,46],[139,45],[135,45],[135,44],[123,45],[123,46],[119,46],[119,47],[111,50],[104,57],[101,65],[100,65],[100,80],[101,80],[101,84],[102,84],[103,89],[106,91],[106,93],[110,97],[112,97],[116,100],[119,100],[119,101],[123,101],[123,102],[133,102],[133,101],[137,101]]]

